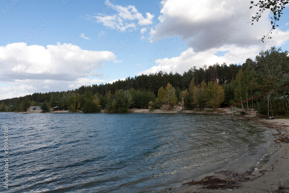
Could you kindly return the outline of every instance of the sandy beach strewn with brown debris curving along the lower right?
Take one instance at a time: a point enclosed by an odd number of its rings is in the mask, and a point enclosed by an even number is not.
[[[228,114],[229,113],[222,113]],[[200,181],[184,183],[178,188],[156,191],[157,193],[190,193],[190,192],[289,192],[289,120],[288,119],[254,119],[250,115],[237,115],[244,119],[259,122],[275,129],[278,139],[273,143],[280,143],[280,147],[270,157],[269,161],[256,171],[244,174],[234,171],[221,171]],[[240,179],[239,179],[240,177]]]

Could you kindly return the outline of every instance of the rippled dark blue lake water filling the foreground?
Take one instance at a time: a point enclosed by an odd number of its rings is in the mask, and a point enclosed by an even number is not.
[[[0,113],[0,122],[7,192],[152,192],[261,167],[278,148],[275,130],[228,115]]]

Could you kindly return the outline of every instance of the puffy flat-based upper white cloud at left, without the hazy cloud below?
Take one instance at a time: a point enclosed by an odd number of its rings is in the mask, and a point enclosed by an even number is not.
[[[115,60],[109,51],[83,50],[77,45],[60,44],[27,46],[12,43],[0,47],[0,81],[16,78],[75,80],[101,69],[104,61]]]

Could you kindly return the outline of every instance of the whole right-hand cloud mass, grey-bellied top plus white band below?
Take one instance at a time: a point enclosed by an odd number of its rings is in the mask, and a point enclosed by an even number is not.
[[[139,75],[160,70],[183,73],[196,66],[214,63],[242,63],[247,58],[255,58],[261,51],[272,46],[281,46],[289,39],[289,30],[273,30],[272,39],[261,43],[263,35],[271,30],[270,11],[265,11],[259,22],[247,23],[258,10],[249,9],[250,1],[229,0],[165,0],[159,23],[151,27],[150,42],[176,35],[186,41],[187,50],[173,58],[156,58],[155,64],[148,62],[148,70]],[[223,56],[217,56],[224,52]]]

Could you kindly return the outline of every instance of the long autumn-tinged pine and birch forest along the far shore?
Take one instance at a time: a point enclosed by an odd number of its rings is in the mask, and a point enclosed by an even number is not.
[[[192,64],[193,66],[193,64]],[[267,96],[243,102],[254,96],[289,84],[288,51],[271,47],[261,51],[254,60],[242,65],[226,63],[195,66],[182,75],[175,72],[156,72],[127,77],[112,84],[93,84],[62,92],[33,93],[23,97],[0,100],[0,112],[23,112],[29,106],[41,106],[50,111],[60,106],[69,111],[127,112],[130,108],[160,109],[162,104],[183,109],[217,109],[241,102],[242,109],[267,112]],[[270,94],[270,113],[289,114],[289,89]]]

